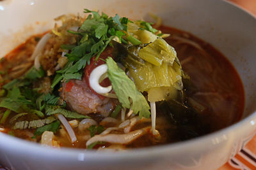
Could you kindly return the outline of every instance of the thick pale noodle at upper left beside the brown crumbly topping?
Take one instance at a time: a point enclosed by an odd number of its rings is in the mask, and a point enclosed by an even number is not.
[[[35,60],[34,61],[34,66],[36,69],[40,68],[40,57],[42,55],[42,51],[44,50],[44,47],[48,41],[48,39],[51,38],[51,34],[47,33],[45,34],[40,41],[37,43],[36,48],[34,52],[32,53],[30,59]]]

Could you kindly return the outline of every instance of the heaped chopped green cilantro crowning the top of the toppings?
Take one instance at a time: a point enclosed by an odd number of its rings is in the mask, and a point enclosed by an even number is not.
[[[86,64],[90,64],[90,59],[93,56],[97,60],[113,38],[117,37],[120,42],[125,42],[122,36],[126,35],[128,18],[120,18],[117,14],[115,17],[109,17],[105,13],[100,15],[99,12],[88,9],[84,9],[84,13],[90,14],[81,27],[77,31],[68,31],[79,37],[76,46],[61,45],[61,48],[70,50],[65,55],[68,58],[68,63],[63,69],[56,71],[57,74],[51,85],[52,89],[61,80],[81,80]],[[132,40],[134,41],[134,39]]]

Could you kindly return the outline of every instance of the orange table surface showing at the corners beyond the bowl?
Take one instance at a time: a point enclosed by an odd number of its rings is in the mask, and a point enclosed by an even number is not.
[[[256,16],[256,0],[228,0]],[[218,170],[256,169],[256,136],[244,146],[241,152]],[[0,166],[0,170],[5,170]]]

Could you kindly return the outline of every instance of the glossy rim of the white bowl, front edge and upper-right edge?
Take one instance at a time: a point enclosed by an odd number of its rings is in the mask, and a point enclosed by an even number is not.
[[[256,15],[253,15],[250,11],[245,10],[243,7],[228,1],[228,0],[221,0],[225,3],[228,3],[232,6],[236,6],[239,10],[244,11],[247,13],[247,15],[250,15],[255,22],[256,22]],[[253,121],[253,122],[252,122]],[[248,117],[244,117],[242,120],[239,120],[239,122],[236,122],[228,127],[225,127],[223,129],[220,129],[218,131],[212,132],[210,134],[205,134],[204,136],[200,136],[198,138],[193,138],[193,139],[188,139],[186,141],[180,141],[177,143],[171,143],[171,144],[166,144],[166,145],[159,145],[159,146],[150,146],[150,147],[145,147],[145,148],[136,148],[136,149],[131,149],[127,150],[126,152],[115,152],[115,154],[111,154],[113,152],[97,152],[95,150],[86,150],[86,149],[81,149],[81,148],[60,148],[60,149],[55,149],[47,146],[42,146],[40,143],[33,143],[30,141],[26,141],[24,139],[16,138],[13,136],[10,136],[8,134],[4,134],[0,132],[0,144],[6,143],[5,146],[8,146],[9,144],[12,143],[12,147],[15,147],[15,152],[20,152],[23,154],[26,153],[35,153],[35,152],[40,152],[41,157],[51,157],[53,156],[58,156],[58,157],[66,157],[68,159],[74,158],[76,160],[79,160],[79,157],[84,155],[86,157],[86,161],[92,161],[92,160],[122,160],[127,159],[127,158],[133,158],[138,156],[138,157],[153,157],[154,155],[157,156],[159,153],[170,153],[170,151],[175,151],[175,150],[180,150],[182,148],[187,148],[191,147],[193,145],[198,145],[198,143],[204,143],[207,141],[211,141],[214,138],[219,138],[220,136],[226,136],[230,131],[236,131],[237,129],[241,128],[241,126],[245,126],[246,124],[251,124],[254,125],[256,124],[256,110],[253,111],[251,115]],[[254,132],[256,134],[256,132]],[[227,139],[226,139],[227,140]],[[11,148],[11,147],[10,147]],[[30,148],[30,149],[28,149]],[[150,148],[150,149],[148,149]],[[58,152],[56,152],[58,150]],[[19,154],[18,152],[18,154]],[[109,154],[110,153],[110,154]],[[150,153],[150,154],[148,154]],[[85,160],[85,159],[84,159]],[[83,160],[79,160],[83,161]]]

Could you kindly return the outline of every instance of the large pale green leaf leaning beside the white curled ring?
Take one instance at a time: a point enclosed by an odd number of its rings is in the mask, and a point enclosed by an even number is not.
[[[106,59],[106,64],[108,65],[108,78],[115,90],[118,101],[122,103],[124,108],[130,108],[131,103],[129,99],[131,99],[133,113],[140,113],[140,117],[148,118],[150,116],[150,107],[145,97],[136,88],[134,82],[117,66],[111,57]]]

